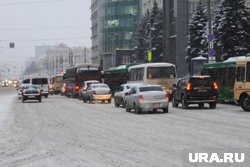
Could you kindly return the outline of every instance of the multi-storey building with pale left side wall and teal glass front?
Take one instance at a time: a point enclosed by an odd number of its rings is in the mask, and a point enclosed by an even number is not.
[[[115,53],[116,50],[134,48],[140,4],[140,1],[91,1],[93,63],[100,62],[104,70],[122,64],[117,63],[119,55]],[[131,52],[128,51],[128,54]]]

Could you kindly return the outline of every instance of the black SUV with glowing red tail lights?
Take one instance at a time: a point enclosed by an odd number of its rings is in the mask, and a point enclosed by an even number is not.
[[[188,108],[189,104],[198,104],[199,108],[208,103],[210,108],[215,109],[218,98],[218,85],[210,76],[190,76],[178,80],[173,85],[173,107],[182,104],[182,108]]]

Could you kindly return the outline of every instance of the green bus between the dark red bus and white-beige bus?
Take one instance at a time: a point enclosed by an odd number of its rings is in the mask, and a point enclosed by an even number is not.
[[[127,83],[129,78],[128,68],[133,65],[135,64],[121,65],[104,72],[105,83],[110,87],[112,94],[119,89],[120,85]]]

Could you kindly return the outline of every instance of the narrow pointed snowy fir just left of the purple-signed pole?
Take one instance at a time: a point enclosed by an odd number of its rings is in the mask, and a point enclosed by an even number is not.
[[[207,15],[201,0],[189,24],[188,46],[186,51],[186,60],[188,62],[194,57],[207,57],[208,55]]]

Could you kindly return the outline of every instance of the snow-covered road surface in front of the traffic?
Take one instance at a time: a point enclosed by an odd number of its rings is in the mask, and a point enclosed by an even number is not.
[[[0,94],[1,167],[179,167],[184,148],[250,148],[250,113],[234,105],[136,115],[113,103]]]

